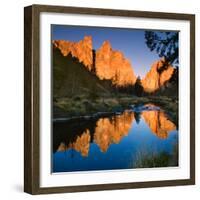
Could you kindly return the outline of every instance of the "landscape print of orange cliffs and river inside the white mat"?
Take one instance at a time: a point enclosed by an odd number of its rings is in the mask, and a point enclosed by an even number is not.
[[[51,25],[52,172],[179,166],[179,31]]]

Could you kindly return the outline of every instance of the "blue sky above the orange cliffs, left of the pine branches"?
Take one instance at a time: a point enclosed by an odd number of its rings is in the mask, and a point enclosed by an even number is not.
[[[145,30],[137,29],[52,25],[52,40],[79,41],[90,35],[93,49],[98,49],[105,40],[109,40],[114,50],[122,51],[131,61],[135,74],[141,78],[159,59],[156,52],[151,52],[145,44],[144,33]]]

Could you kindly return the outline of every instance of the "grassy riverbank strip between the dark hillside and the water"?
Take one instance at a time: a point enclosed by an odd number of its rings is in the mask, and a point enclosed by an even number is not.
[[[84,96],[59,98],[53,103],[53,119],[56,121],[112,115],[132,109],[133,106],[149,103],[167,112],[171,120],[178,125],[178,101],[165,96],[114,96],[97,97],[92,100]]]

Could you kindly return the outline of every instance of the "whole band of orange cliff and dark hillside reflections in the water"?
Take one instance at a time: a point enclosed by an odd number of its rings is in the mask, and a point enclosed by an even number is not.
[[[166,139],[169,132],[176,129],[161,110],[141,113],[125,111],[120,115],[99,119],[54,123],[56,133],[53,134],[53,151],[74,149],[82,156],[88,156],[90,143],[96,143],[102,152],[106,152],[111,144],[118,144],[128,135],[134,123],[139,124],[141,118],[151,132],[161,139]]]

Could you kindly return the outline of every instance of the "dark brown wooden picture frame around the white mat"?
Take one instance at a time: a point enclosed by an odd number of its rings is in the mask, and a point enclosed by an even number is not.
[[[190,22],[190,178],[150,182],[112,183],[64,187],[40,187],[40,13],[75,13],[124,16]],[[195,16],[96,8],[32,5],[24,9],[24,191],[30,194],[98,191],[195,184]]]

